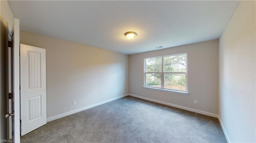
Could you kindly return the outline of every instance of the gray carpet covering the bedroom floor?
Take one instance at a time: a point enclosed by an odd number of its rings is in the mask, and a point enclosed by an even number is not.
[[[126,96],[46,125],[21,143],[226,143],[217,118]]]

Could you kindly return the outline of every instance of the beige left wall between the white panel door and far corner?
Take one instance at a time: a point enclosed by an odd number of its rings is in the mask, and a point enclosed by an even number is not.
[[[26,31],[20,43],[46,49],[47,118],[128,94],[128,55]]]

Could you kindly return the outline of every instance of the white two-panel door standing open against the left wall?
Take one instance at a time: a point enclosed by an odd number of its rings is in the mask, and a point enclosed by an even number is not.
[[[46,50],[20,44],[21,135],[46,124]]]

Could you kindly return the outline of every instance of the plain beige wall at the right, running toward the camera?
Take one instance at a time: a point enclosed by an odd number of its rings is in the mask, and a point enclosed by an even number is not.
[[[256,142],[255,7],[242,1],[220,37],[219,116],[231,142]]]

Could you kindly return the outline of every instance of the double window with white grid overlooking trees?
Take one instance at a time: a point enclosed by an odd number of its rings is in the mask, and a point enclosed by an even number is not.
[[[187,93],[187,54],[144,59],[144,87]]]

